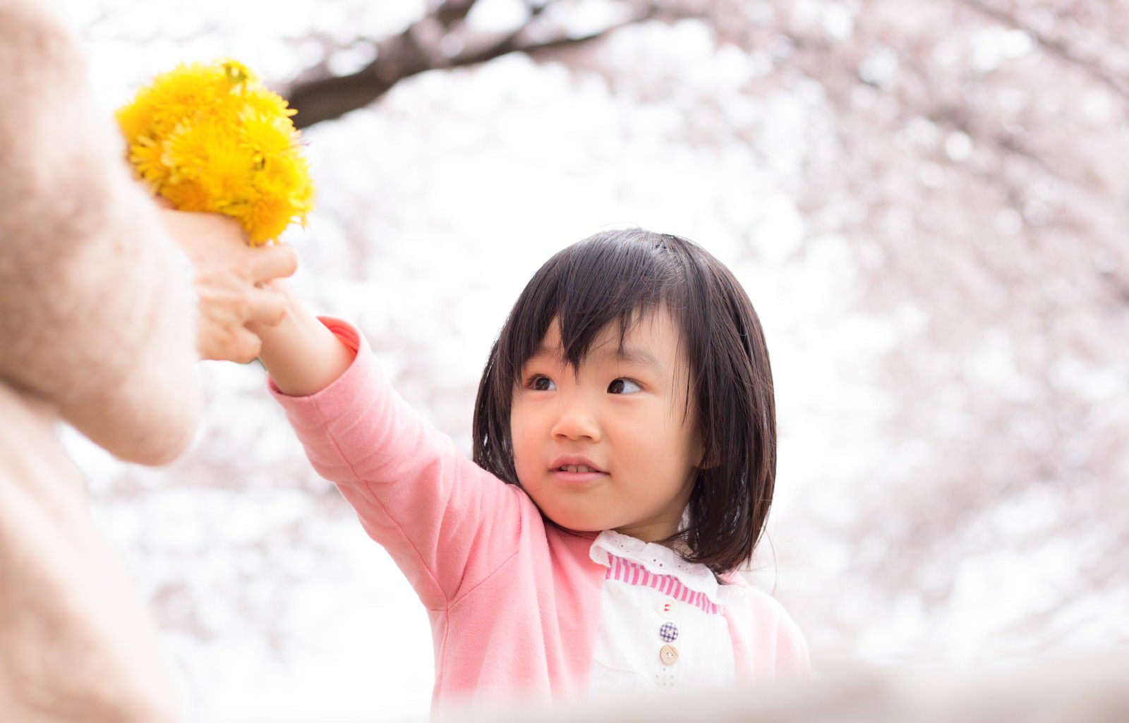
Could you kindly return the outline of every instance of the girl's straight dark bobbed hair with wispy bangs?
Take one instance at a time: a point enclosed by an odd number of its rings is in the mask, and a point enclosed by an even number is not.
[[[510,405],[522,368],[553,319],[564,359],[579,367],[609,324],[619,324],[622,341],[641,312],[658,308],[669,311],[681,336],[704,450],[689,526],[672,540],[689,547],[681,553],[688,562],[721,574],[752,557],[768,519],[776,482],[776,403],[753,305],[729,270],[693,241],[642,229],[604,231],[558,253],[534,274],[482,371],[474,461],[518,484]]]

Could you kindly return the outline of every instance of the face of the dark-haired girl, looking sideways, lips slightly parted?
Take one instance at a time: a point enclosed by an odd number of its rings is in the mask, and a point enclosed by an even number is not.
[[[701,443],[677,330],[666,310],[623,340],[605,327],[579,369],[554,320],[522,369],[510,434],[518,482],[563,528],[613,529],[645,541],[677,531]]]

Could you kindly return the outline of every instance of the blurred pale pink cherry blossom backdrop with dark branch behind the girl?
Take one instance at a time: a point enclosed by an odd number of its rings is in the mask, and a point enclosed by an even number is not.
[[[464,449],[552,253],[639,224],[728,264],[780,457],[754,582],[817,673],[1129,643],[1129,6],[63,0],[106,112],[233,56],[318,189],[295,284]],[[427,617],[256,364],[172,467],[73,434],[192,721],[423,720]]]

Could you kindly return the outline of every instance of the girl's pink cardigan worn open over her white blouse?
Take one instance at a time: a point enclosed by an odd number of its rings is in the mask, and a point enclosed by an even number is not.
[[[357,510],[428,609],[434,700],[566,700],[583,693],[606,568],[594,534],[546,523],[532,500],[467,459],[391,388],[359,347],[326,389],[287,397],[271,385],[314,468]],[[736,584],[744,584],[737,582]],[[725,616],[741,679],[806,672],[807,647],[779,603],[749,589]]]

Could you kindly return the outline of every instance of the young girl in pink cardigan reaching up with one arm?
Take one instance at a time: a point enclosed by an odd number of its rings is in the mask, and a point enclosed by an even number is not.
[[[735,571],[776,476],[760,321],[697,245],[598,233],[553,256],[487,360],[474,461],[365,340],[294,301],[256,329],[310,461],[427,606],[435,702],[720,687],[807,670]]]

